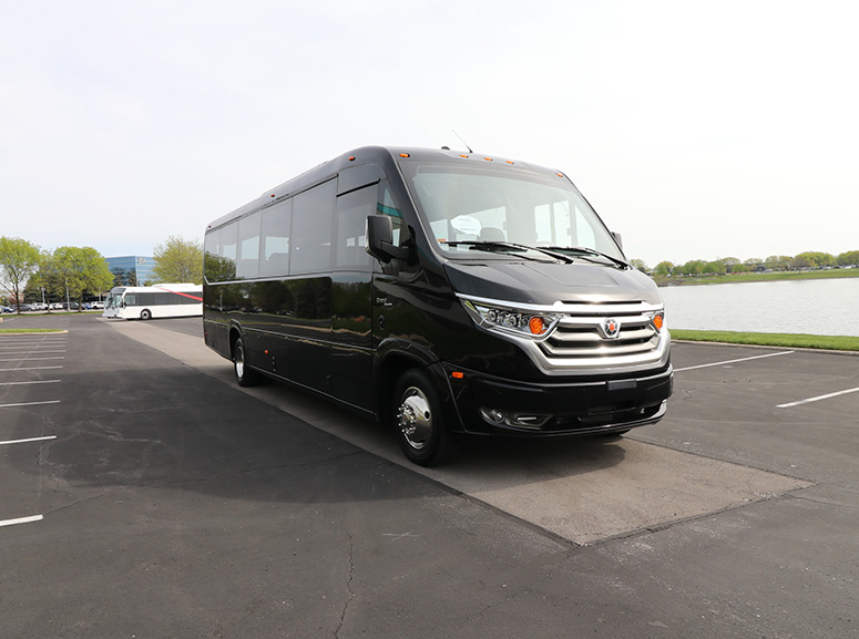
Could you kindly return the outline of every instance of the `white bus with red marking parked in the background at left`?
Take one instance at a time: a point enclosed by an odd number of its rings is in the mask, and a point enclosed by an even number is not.
[[[198,284],[117,286],[104,300],[102,312],[102,317],[143,320],[202,316],[203,286]]]

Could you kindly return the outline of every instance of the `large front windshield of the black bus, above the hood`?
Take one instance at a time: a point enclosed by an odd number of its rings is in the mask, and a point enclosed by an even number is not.
[[[543,248],[535,255],[599,254],[625,266],[611,233],[566,177],[467,163],[401,167],[426,229],[449,257],[488,247]]]

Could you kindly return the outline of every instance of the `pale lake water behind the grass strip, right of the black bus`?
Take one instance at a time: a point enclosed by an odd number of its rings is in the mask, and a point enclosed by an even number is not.
[[[669,329],[859,337],[859,278],[659,289]]]

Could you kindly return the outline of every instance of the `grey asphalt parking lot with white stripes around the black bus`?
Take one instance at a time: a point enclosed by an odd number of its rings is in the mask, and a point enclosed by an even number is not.
[[[200,320],[0,336],[1,637],[859,636],[859,358],[675,346],[625,437],[392,437]]]

